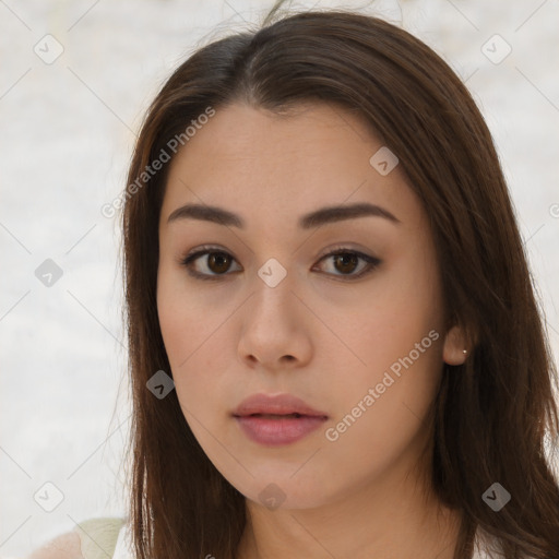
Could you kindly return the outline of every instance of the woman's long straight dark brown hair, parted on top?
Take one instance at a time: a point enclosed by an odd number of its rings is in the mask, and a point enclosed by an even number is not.
[[[559,558],[559,487],[545,449],[546,435],[559,435],[557,370],[489,130],[429,47],[340,10],[266,20],[200,48],[164,84],[141,128],[122,213],[136,557],[234,559],[247,522],[245,497],[204,454],[176,391],[158,400],[146,388],[158,370],[173,376],[156,308],[169,164],[146,168],[173,139],[188,150],[185,129],[209,108],[246,103],[278,112],[300,102],[354,111],[396,154],[429,216],[448,325],[462,324],[473,342],[464,365],[444,365],[432,409],[432,486],[463,519],[454,558],[472,557],[478,526],[507,559]],[[493,483],[511,493],[499,512],[481,498]]]

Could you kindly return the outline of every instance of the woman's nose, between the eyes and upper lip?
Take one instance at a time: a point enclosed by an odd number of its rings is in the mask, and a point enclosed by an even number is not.
[[[257,277],[241,320],[238,356],[245,366],[281,370],[310,361],[312,313],[295,293],[289,274],[275,287]]]

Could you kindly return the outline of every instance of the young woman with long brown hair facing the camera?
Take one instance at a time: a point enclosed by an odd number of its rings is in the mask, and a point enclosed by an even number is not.
[[[134,557],[559,557],[556,370],[431,49],[342,11],[215,41],[128,185]]]

